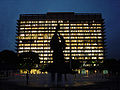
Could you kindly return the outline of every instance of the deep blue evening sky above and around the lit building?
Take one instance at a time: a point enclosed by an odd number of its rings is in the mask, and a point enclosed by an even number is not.
[[[120,59],[120,0],[0,0],[0,51],[15,51],[19,14],[102,13],[108,58]]]

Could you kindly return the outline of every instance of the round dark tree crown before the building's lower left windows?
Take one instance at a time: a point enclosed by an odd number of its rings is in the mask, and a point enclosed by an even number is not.
[[[34,52],[23,52],[19,55],[19,68],[32,69],[36,64],[39,64],[39,56]]]

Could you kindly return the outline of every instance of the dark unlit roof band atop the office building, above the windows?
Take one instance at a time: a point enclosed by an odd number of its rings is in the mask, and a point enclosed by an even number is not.
[[[20,20],[101,20],[101,13],[48,12],[46,14],[20,14]]]

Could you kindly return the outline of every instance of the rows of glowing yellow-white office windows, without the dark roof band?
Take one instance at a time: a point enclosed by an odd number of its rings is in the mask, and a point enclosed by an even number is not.
[[[18,27],[18,53],[36,52],[41,63],[52,63],[50,40],[60,24],[60,34],[65,38],[67,47],[64,50],[65,59],[103,60],[104,32],[103,24],[64,23],[64,21],[21,21]],[[23,43],[23,40],[32,40]],[[71,50],[70,50],[71,49]],[[71,53],[70,53],[71,52]]]

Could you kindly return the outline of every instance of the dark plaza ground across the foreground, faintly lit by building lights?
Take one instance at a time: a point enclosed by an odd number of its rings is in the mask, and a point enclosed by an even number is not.
[[[31,75],[26,83],[24,75],[2,78],[0,90],[120,90],[120,76],[103,77],[100,74],[67,75],[68,80],[51,82],[50,75]]]

